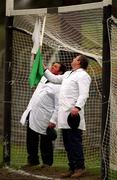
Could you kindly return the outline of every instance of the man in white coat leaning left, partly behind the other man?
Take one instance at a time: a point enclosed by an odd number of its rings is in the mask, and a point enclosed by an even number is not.
[[[65,65],[60,62],[53,63],[50,68],[51,73],[55,75],[63,74],[65,70]],[[56,126],[59,91],[60,84],[48,82],[43,76],[21,117],[22,125],[26,121],[28,122],[28,166],[40,164],[38,156],[39,141],[43,166],[47,167],[53,164],[53,142],[46,134],[46,129],[48,126],[51,128]]]

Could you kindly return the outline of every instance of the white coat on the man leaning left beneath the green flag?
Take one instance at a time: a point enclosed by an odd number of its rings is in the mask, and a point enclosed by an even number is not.
[[[56,124],[58,113],[60,85],[46,81],[42,77],[20,120],[24,125],[30,113],[29,127],[40,134],[46,134],[49,122]]]

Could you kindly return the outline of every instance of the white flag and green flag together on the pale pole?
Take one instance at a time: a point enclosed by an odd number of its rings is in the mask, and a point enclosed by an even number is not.
[[[31,61],[30,61],[30,67],[32,69],[31,69],[31,72],[29,74],[29,79],[28,79],[29,85],[31,88],[36,86],[39,83],[41,77],[44,74],[41,48],[42,48],[42,42],[43,42],[43,36],[44,36],[45,22],[46,22],[46,16],[44,16],[43,18],[43,24],[41,23],[40,17],[37,17],[35,27],[34,27],[34,32],[32,34],[33,48],[31,51],[32,55],[31,55]],[[41,30],[41,26],[42,26],[42,30]],[[35,54],[36,56],[34,59]]]

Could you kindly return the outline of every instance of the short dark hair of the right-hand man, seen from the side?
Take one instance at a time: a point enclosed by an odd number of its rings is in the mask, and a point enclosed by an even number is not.
[[[80,55],[79,60],[80,60],[80,67],[83,69],[87,69],[89,64],[88,58],[85,55]]]

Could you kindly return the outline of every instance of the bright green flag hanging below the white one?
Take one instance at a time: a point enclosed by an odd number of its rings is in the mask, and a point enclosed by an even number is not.
[[[32,70],[30,72],[29,79],[28,79],[29,85],[31,88],[36,86],[39,83],[43,74],[44,74],[44,67],[42,63],[42,55],[40,53],[40,49],[38,49],[38,52],[34,59]]]

